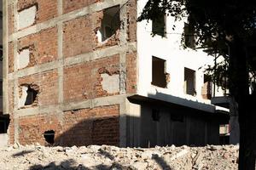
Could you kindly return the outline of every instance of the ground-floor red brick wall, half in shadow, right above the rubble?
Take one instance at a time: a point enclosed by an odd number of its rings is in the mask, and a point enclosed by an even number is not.
[[[63,114],[63,123],[54,114],[21,117],[20,144],[47,144],[43,134],[54,130],[55,144],[119,145],[119,105],[65,111]]]

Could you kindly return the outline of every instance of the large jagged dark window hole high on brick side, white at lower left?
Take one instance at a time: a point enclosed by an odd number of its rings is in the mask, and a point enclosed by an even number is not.
[[[102,25],[100,30],[97,32],[99,42],[103,42],[109,37],[112,37],[113,34],[115,34],[117,30],[119,30],[119,10],[119,6],[104,9]]]

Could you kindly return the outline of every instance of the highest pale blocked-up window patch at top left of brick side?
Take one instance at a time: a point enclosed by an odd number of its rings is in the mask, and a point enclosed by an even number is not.
[[[36,21],[37,5],[33,5],[30,8],[25,8],[18,13],[18,28],[26,28],[32,26]]]

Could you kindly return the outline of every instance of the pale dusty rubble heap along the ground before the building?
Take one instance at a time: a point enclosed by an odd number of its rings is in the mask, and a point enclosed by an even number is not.
[[[150,149],[108,145],[45,147],[14,144],[0,148],[3,169],[237,169],[238,145],[156,146]]]

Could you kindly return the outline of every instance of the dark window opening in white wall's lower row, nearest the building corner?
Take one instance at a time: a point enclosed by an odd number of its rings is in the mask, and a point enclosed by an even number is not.
[[[166,60],[152,57],[152,82],[154,86],[166,88]]]

